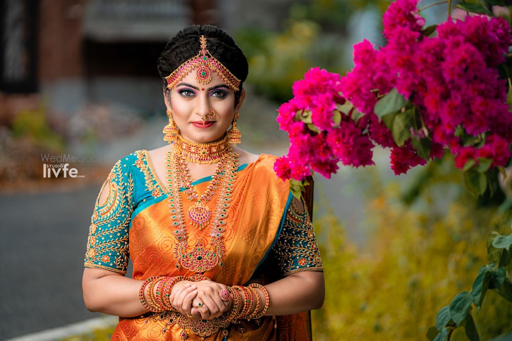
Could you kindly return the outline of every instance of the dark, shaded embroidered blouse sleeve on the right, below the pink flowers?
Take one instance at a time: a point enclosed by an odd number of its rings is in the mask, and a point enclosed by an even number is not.
[[[304,200],[302,202],[304,211],[298,209],[292,200],[283,230],[272,248],[283,276],[299,271],[324,270],[313,225]]]

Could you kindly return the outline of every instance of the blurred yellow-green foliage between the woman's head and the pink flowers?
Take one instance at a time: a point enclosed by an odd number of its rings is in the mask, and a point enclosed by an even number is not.
[[[381,13],[389,6],[383,0],[317,0],[295,3],[281,32],[248,27],[233,36],[249,61],[247,82],[257,92],[278,103],[292,97],[294,81],[304,78],[311,67],[345,73],[351,67],[342,52],[352,50],[347,42],[350,16],[374,6]]]

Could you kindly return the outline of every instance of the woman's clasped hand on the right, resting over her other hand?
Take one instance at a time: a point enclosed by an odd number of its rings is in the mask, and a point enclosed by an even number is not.
[[[192,301],[193,308],[191,314],[201,314],[201,318],[205,320],[215,319],[221,316],[225,311],[231,310],[233,300],[230,296],[229,301],[222,301],[219,292],[226,289],[227,286],[212,281],[194,282],[197,286],[197,295]],[[202,306],[198,308],[198,304]]]

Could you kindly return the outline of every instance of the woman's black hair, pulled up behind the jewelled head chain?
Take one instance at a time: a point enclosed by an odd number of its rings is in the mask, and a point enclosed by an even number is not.
[[[158,72],[163,79],[164,91],[167,94],[165,77],[178,69],[188,59],[199,53],[199,37],[206,37],[208,52],[217,58],[235,77],[240,79],[238,91],[234,93],[234,105],[238,104],[242,94],[242,83],[247,78],[249,65],[242,50],[234,39],[223,29],[213,25],[190,25],[180,30],[165,45],[158,58]]]

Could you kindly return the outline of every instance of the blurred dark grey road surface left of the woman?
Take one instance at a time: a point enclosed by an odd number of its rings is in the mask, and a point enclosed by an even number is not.
[[[98,190],[0,196],[0,339],[100,316],[81,290]]]

